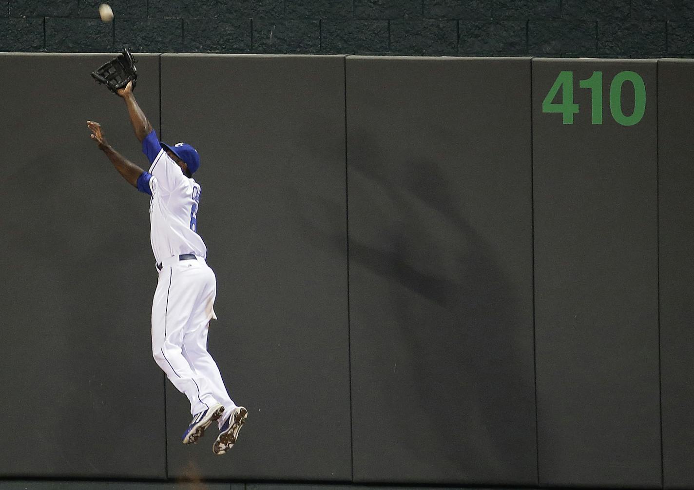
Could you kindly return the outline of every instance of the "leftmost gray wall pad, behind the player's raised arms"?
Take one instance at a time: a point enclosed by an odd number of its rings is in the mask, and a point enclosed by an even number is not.
[[[0,55],[2,476],[164,476],[149,196],[86,126],[144,160],[124,103],[89,75],[110,58]],[[137,96],[158,124],[158,56],[138,59]]]

